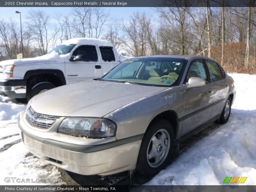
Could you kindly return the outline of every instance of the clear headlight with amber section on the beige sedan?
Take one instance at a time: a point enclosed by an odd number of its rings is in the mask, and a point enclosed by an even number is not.
[[[66,118],[58,132],[88,138],[115,136],[116,124],[103,118]]]

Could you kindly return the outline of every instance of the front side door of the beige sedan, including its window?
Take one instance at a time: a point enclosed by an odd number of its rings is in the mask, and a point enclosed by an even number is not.
[[[193,60],[185,77],[185,84],[190,77],[200,77],[207,80],[207,71],[203,59]],[[209,92],[209,83],[202,87],[188,88],[182,91],[184,99],[184,116],[180,118],[182,123],[181,136],[193,131],[206,123],[210,116],[212,95]]]

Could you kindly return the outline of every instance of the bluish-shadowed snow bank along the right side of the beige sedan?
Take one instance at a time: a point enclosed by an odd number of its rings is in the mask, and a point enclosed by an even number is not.
[[[248,177],[256,185],[256,75],[231,74],[236,99],[224,124],[197,142],[147,185],[222,185],[226,177]]]

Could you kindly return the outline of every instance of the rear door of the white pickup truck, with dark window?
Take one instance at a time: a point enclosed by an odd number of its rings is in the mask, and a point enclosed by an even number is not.
[[[115,55],[113,47],[100,46],[99,49],[100,49],[100,55],[101,55],[102,76],[103,76],[109,70],[116,67],[120,62],[119,60],[116,59],[118,58],[118,55]]]

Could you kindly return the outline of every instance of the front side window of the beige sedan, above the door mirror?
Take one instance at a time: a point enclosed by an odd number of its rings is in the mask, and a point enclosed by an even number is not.
[[[199,59],[199,60],[192,61],[191,65],[188,69],[188,74],[186,76],[186,82],[188,82],[190,77],[200,77],[205,80],[207,79],[203,60]]]

